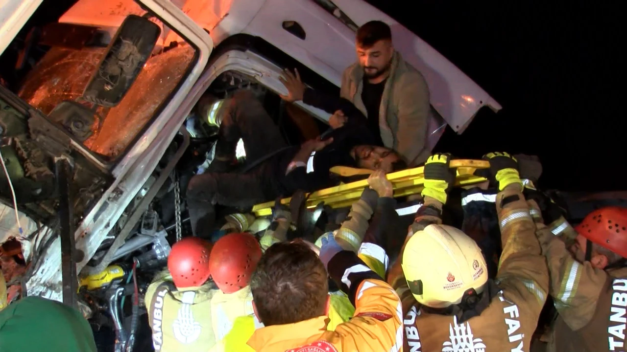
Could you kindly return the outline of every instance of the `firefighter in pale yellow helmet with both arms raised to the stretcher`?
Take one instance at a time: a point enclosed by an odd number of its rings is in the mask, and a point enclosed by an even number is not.
[[[429,157],[424,205],[388,276],[403,302],[405,351],[529,351],[549,288],[547,266],[516,160],[507,153],[485,158],[499,190],[503,254],[497,277],[488,279],[475,241],[441,224],[455,170],[450,155]]]

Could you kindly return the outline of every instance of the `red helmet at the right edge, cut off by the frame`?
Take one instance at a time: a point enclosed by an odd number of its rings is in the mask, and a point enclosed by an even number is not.
[[[575,228],[591,242],[627,257],[627,208],[604,207],[594,210]]]

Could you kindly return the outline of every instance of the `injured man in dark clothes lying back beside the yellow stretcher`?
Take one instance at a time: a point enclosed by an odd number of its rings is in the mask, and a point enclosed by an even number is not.
[[[219,132],[215,157],[207,172],[195,175],[187,185],[187,206],[194,236],[213,231],[215,205],[247,208],[289,197],[296,190],[312,192],[339,184],[329,172],[335,166],[369,168],[393,172],[406,163],[398,153],[376,145],[365,116],[349,101],[342,101],[332,118],[342,123],[302,145],[288,145],[261,101],[240,90],[219,106]],[[201,108],[202,110],[202,108]],[[340,118],[338,118],[340,117]],[[248,167],[233,172],[238,141],[243,140]],[[229,172],[231,171],[231,172]]]

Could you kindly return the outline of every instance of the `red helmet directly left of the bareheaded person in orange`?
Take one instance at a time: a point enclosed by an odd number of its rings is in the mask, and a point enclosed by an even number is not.
[[[260,258],[261,247],[255,236],[247,233],[228,234],[211,249],[209,271],[222,292],[233,293],[248,286]]]

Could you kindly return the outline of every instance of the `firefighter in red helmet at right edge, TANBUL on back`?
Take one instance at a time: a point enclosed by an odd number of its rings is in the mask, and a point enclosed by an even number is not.
[[[576,232],[563,218],[554,224],[539,234],[559,313],[547,350],[624,351],[627,209],[594,210]]]

